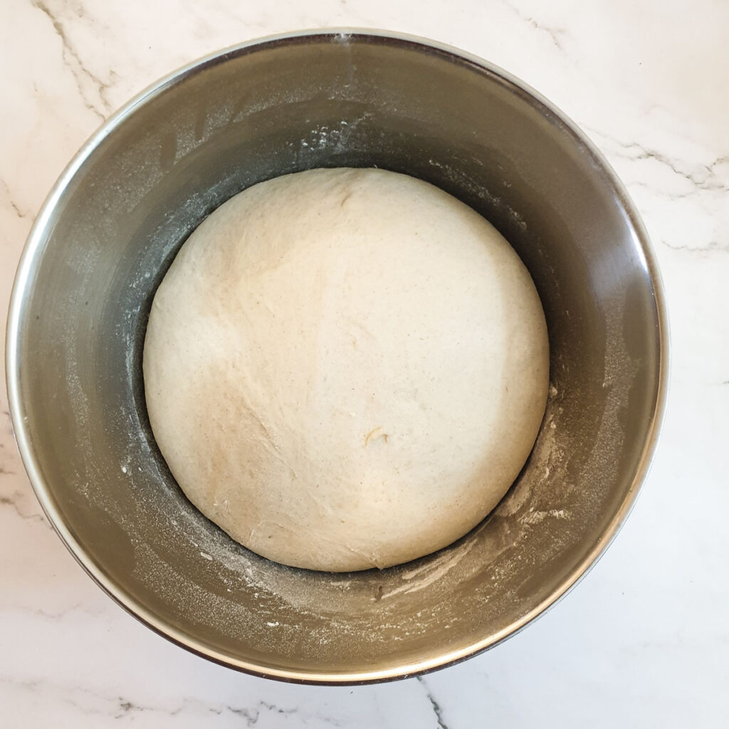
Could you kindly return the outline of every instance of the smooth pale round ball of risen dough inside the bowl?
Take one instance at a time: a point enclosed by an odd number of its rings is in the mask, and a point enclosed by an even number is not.
[[[257,184],[184,243],[152,304],[152,430],[198,509],[332,572],[433,552],[529,456],[547,327],[517,254],[442,190],[376,169]]]

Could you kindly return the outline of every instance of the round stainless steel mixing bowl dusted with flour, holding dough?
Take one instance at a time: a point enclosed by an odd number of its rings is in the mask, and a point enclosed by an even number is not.
[[[306,572],[184,498],[149,429],[141,344],[160,278],[220,203],[293,171],[373,165],[451,192],[512,243],[544,304],[552,387],[529,462],[467,537],[382,572]],[[7,380],[44,511],[122,607],[227,666],[368,682],[493,646],[596,561],[655,447],[666,346],[638,214],[564,115],[451,48],[325,31],[187,66],[90,139],[23,254]]]

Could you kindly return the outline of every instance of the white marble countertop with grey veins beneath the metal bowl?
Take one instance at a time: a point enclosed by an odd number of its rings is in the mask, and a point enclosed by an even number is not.
[[[3,386],[0,725],[726,726],[725,0],[2,0],[0,311],[44,196],[114,109],[219,47],[317,26],[407,31],[481,55],[560,106],[622,176],[658,252],[673,343],[643,494],[587,579],[495,650],[389,685],[284,685],[174,647],[86,577],[41,515]]]

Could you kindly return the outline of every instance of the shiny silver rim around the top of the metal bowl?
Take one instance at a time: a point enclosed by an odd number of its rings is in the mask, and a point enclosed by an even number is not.
[[[351,38],[372,39],[378,42],[392,43],[397,45],[415,46],[420,52],[437,52],[440,55],[450,57],[453,61],[464,61],[471,66],[475,66],[477,70],[485,71],[491,77],[499,79],[504,85],[509,86],[519,95],[529,99],[530,104],[547,112],[550,125],[559,125],[563,131],[572,136],[572,140],[582,147],[592,157],[599,174],[604,176],[608,184],[615,190],[615,195],[620,201],[620,205],[628,218],[629,225],[634,233],[636,249],[642,252],[644,258],[644,268],[647,270],[654,292],[655,308],[658,316],[658,383],[655,391],[655,405],[647,429],[644,445],[642,448],[639,466],[631,481],[631,486],[625,494],[623,503],[615,512],[612,520],[607,528],[592,545],[588,553],[582,560],[572,569],[567,577],[561,582],[553,593],[542,600],[537,606],[533,607],[525,615],[521,616],[514,623],[496,634],[487,636],[467,647],[459,650],[444,653],[437,658],[428,658],[416,663],[403,663],[402,665],[391,666],[380,670],[361,670],[351,672],[334,672],[327,671],[322,668],[321,671],[301,671],[301,670],[284,670],[272,666],[263,666],[246,660],[240,660],[227,655],[219,650],[214,650],[207,644],[195,639],[194,636],[180,631],[174,626],[169,625],[165,620],[161,619],[154,612],[147,609],[143,604],[139,603],[132,595],[127,593],[120,585],[117,585],[108,574],[104,571],[101,564],[96,564],[93,557],[86,552],[82,545],[77,542],[74,534],[63,522],[63,516],[55,504],[52,495],[52,488],[45,482],[42,477],[39,463],[36,459],[31,435],[26,425],[27,418],[24,416],[23,400],[21,397],[21,365],[20,362],[20,346],[23,339],[23,333],[20,329],[20,321],[23,316],[23,308],[28,298],[28,281],[34,269],[36,256],[39,254],[42,239],[48,222],[52,216],[55,206],[58,204],[61,195],[66,190],[74,175],[85,162],[87,157],[109,136],[122,122],[132,114],[136,109],[143,106],[147,101],[155,98],[160,93],[182,82],[186,77],[197,73],[200,70],[217,63],[225,63],[228,58],[241,55],[251,50],[259,50],[262,47],[281,46],[292,43],[300,43],[305,39],[320,39],[324,36],[330,36],[332,40],[340,40],[340,42],[349,42]],[[451,666],[466,660],[472,656],[478,655],[496,645],[504,642],[507,638],[514,636],[518,632],[526,628],[537,617],[541,617],[548,609],[558,603],[570,590],[580,582],[585,574],[597,563],[599,558],[605,553],[607,547],[615,539],[620,528],[625,523],[625,519],[631,512],[640,488],[650,470],[652,460],[655,456],[656,445],[658,443],[658,434],[663,424],[663,418],[666,413],[666,401],[668,397],[668,379],[669,379],[669,330],[668,330],[668,312],[666,309],[666,297],[663,290],[663,281],[660,276],[658,262],[653,252],[650,238],[644,227],[642,219],[637,208],[625,185],[620,181],[612,166],[607,162],[604,155],[599,151],[595,144],[588,136],[573,122],[569,117],[558,109],[555,104],[548,101],[537,90],[521,81],[512,74],[504,71],[499,66],[484,60],[472,53],[453,47],[450,44],[434,41],[421,36],[400,33],[397,31],[384,31],[373,28],[313,28],[300,31],[272,34],[263,36],[250,41],[234,44],[232,46],[217,50],[208,55],[198,58],[195,61],[186,63],[175,71],[166,74],[161,79],[147,86],[140,93],[135,95],[126,104],[124,104],[117,112],[114,112],[105,122],[95,130],[87,141],[83,144],[79,152],[74,155],[66,168],[58,177],[57,182],[50,190],[44,201],[39,214],[37,215],[34,225],[28,234],[28,239],[23,252],[20,255],[20,262],[15,273],[15,280],[12,285],[12,293],[10,297],[9,311],[7,317],[7,334],[6,334],[6,382],[9,413],[12,426],[15,433],[17,448],[20,451],[23,465],[28,473],[31,486],[39,500],[42,510],[51,526],[61,538],[66,548],[71,552],[77,562],[87,572],[87,574],[96,582],[96,584],[106,592],[117,604],[124,608],[130,615],[136,617],[141,623],[147,625],[155,633],[163,636],[172,643],[182,647],[195,655],[199,655],[214,663],[222,666],[235,668],[248,674],[253,674],[262,678],[277,679],[286,682],[311,684],[311,685],[364,685],[378,682],[386,682],[397,679],[405,679],[408,677],[425,674],[439,668]]]

